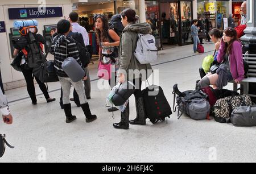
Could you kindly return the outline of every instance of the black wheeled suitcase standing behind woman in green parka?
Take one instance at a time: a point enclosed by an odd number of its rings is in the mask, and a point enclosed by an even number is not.
[[[166,117],[170,118],[172,114],[171,106],[160,86],[148,86],[142,90],[142,95],[144,98],[146,118],[149,118],[153,124],[158,121],[164,121]]]

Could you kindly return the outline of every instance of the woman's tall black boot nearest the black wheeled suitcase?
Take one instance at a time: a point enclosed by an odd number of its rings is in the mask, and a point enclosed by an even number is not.
[[[135,98],[137,117],[130,120],[131,125],[146,125],[146,111],[144,108],[144,100],[142,97]]]

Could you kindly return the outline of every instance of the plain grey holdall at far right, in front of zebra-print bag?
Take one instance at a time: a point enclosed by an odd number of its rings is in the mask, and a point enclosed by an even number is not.
[[[230,121],[234,126],[256,126],[256,105],[238,106],[233,110]]]

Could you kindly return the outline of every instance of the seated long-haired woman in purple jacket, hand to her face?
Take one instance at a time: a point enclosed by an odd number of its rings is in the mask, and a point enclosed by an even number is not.
[[[243,78],[245,71],[243,69],[243,57],[241,43],[237,40],[237,32],[234,28],[226,28],[221,39],[220,49],[217,55],[218,63],[225,65],[227,70],[227,80],[234,81],[239,84]],[[208,73],[203,77],[198,88],[207,88],[209,85],[217,85],[218,74]]]

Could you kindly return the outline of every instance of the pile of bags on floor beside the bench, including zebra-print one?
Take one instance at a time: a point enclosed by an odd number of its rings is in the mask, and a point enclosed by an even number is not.
[[[178,119],[184,114],[195,120],[208,119],[212,115],[216,122],[231,122],[234,126],[256,126],[256,105],[253,105],[250,96],[210,87],[184,92],[180,92],[177,84],[173,88],[173,110],[177,111]]]

